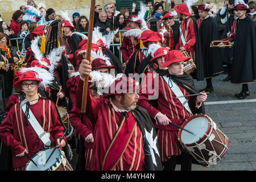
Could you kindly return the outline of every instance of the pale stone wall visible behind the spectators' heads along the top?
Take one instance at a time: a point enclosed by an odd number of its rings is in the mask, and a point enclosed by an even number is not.
[[[79,12],[81,15],[85,15],[89,19],[90,13],[90,0],[34,0],[36,5],[44,6],[46,9],[51,7],[56,11],[56,14],[60,14],[60,11],[68,11],[70,17],[72,18],[72,14],[74,12]],[[160,1],[160,0],[155,0]],[[211,2],[213,11],[217,12],[223,6],[224,0],[199,0],[196,5],[205,2]],[[102,8],[106,3],[115,2],[115,0],[96,0],[96,5],[101,5]],[[175,0],[175,3],[178,5],[181,3],[181,0]],[[11,16],[14,11],[18,10],[20,6],[27,5],[27,0],[1,0],[0,1],[0,14],[2,19],[10,24]],[[169,9],[169,5],[166,2],[164,4],[166,9]]]

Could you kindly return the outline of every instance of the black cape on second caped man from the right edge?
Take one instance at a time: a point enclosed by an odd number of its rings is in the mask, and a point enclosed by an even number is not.
[[[212,17],[204,19],[199,28],[204,61],[204,77],[211,78],[223,72],[221,51],[218,47],[210,47],[213,40],[220,40],[218,27]]]

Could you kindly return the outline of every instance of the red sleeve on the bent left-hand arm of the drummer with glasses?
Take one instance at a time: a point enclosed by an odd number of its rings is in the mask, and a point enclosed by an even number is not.
[[[3,143],[7,147],[10,147],[14,155],[21,154],[26,148],[24,148],[20,142],[18,142],[13,135],[14,123],[15,121],[15,110],[14,107],[11,108],[7,118],[0,126],[0,137]]]

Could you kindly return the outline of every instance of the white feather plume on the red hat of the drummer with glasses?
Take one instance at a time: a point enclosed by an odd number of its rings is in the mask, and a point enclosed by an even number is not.
[[[20,73],[25,73],[28,71],[36,72],[36,78],[40,78],[42,81],[40,82],[39,86],[47,88],[49,84],[52,84],[52,80],[54,79],[53,75],[49,73],[46,69],[39,68],[39,67],[30,67],[30,68],[22,68],[20,69]]]

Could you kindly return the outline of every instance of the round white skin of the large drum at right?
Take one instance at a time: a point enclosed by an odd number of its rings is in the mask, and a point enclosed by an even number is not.
[[[196,134],[195,136],[191,133],[188,133],[185,130],[181,131],[180,140],[184,144],[191,144],[195,143],[200,138],[202,138],[205,133],[208,130],[208,118],[206,117],[196,117],[193,118],[191,121],[187,123],[187,125],[184,126],[184,129],[187,129],[188,131],[191,131],[192,133]]]

